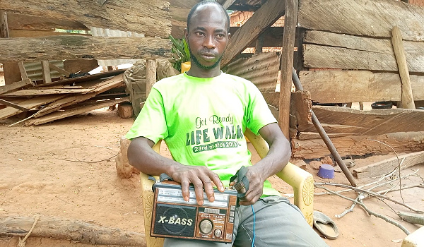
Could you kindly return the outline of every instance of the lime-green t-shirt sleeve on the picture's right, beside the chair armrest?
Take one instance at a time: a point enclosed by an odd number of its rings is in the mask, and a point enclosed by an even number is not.
[[[259,89],[252,83],[249,87],[249,104],[247,107],[247,128],[255,135],[259,130],[269,123],[276,123],[276,118],[266,104],[264,96]]]

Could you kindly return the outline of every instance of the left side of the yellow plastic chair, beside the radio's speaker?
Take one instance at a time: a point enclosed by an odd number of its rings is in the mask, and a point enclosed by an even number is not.
[[[152,148],[159,153],[159,140]],[[144,234],[146,235],[146,246],[148,247],[163,247],[163,238],[154,238],[150,236],[152,224],[153,198],[155,193],[152,191],[153,181],[148,179],[148,175],[140,172],[141,196],[143,197],[143,213],[144,213]]]

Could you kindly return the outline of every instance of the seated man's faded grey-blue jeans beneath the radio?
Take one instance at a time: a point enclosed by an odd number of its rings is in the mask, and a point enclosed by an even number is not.
[[[324,240],[307,224],[299,208],[291,204],[287,198],[269,196],[261,198],[253,205],[255,222],[254,246],[327,246]],[[253,213],[252,207],[237,207],[233,231],[233,246],[252,246]],[[165,247],[213,246],[230,247],[227,243],[213,241],[165,239]]]

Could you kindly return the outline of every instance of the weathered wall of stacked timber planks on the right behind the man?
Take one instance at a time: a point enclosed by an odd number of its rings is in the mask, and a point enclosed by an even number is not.
[[[313,106],[351,102],[399,102],[402,85],[392,30],[399,28],[413,100],[424,100],[424,8],[391,0],[300,0],[302,33],[296,65],[302,92],[292,94],[290,138],[294,157],[330,155],[312,124],[313,110],[342,157],[424,150],[424,111],[363,111]],[[272,94],[267,102],[276,104]],[[278,104],[276,104],[278,107]],[[384,145],[387,144],[387,145]]]

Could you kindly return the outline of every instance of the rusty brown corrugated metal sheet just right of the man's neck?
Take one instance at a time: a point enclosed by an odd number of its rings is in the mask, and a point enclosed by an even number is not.
[[[280,56],[276,52],[254,54],[228,64],[226,73],[252,81],[262,92],[275,92]]]

